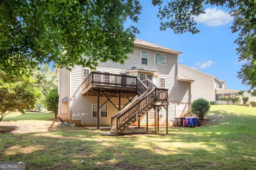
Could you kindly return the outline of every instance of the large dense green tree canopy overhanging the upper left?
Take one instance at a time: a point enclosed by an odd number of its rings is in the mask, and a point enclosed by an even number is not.
[[[69,70],[124,63],[139,32],[124,22],[137,22],[141,8],[138,0],[1,0],[0,70],[13,76],[51,61]]]

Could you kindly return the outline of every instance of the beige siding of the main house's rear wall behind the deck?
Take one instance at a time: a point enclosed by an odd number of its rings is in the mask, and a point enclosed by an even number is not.
[[[141,51],[148,52],[148,65],[141,64]],[[166,64],[155,64],[155,53],[166,55]],[[154,83],[159,86],[160,78],[165,78],[166,88],[169,89],[169,107],[168,117],[173,120],[176,113],[176,102],[190,103],[190,86],[185,82],[179,82],[178,76],[178,60],[177,55],[172,53],[157,52],[156,50],[149,50],[143,48],[136,48],[133,54],[128,55],[129,59],[125,64],[113,63],[108,61],[106,63],[99,63],[97,71],[105,71],[114,74],[124,73],[127,69],[136,67],[149,68],[156,70],[158,77],[154,78]],[[70,72],[70,114],[72,120],[82,121],[82,125],[96,125],[97,118],[92,117],[92,104],[97,104],[96,96],[81,96],[82,83],[82,67],[75,66]],[[186,89],[187,88],[187,89]],[[183,96],[180,96],[182,94]],[[100,105],[106,101],[106,98],[100,97]],[[111,101],[118,105],[118,98],[112,98]],[[121,105],[126,104],[125,98],[121,99]],[[110,102],[108,105],[108,117],[100,117],[100,125],[110,125],[111,116],[116,113],[116,108]],[[162,108],[163,117],[160,118],[160,125],[166,123],[166,110]],[[150,115],[149,115],[150,116]],[[146,125],[146,117],[141,121],[141,124]],[[149,123],[154,123],[154,119],[149,119]]]

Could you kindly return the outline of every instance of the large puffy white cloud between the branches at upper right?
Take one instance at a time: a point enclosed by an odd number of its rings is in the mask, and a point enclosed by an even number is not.
[[[199,16],[195,16],[194,20],[197,23],[203,23],[206,26],[220,26],[220,25],[227,25],[230,23],[233,18],[223,10],[218,10],[217,7],[215,8],[207,8],[205,10],[205,14],[200,14]]]

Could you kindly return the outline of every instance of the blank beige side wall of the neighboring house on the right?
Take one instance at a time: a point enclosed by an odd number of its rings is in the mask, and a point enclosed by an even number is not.
[[[195,80],[191,86],[192,102],[198,98],[215,100],[213,76],[184,65],[179,66],[179,72]]]

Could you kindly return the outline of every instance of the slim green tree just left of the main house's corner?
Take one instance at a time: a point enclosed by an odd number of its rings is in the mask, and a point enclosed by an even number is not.
[[[58,95],[58,88],[54,88],[50,90],[49,94],[46,96],[44,100],[44,104],[47,107],[47,110],[53,111],[55,118],[57,118],[58,113],[58,104],[59,104],[59,95]]]

